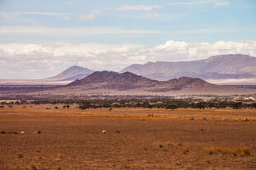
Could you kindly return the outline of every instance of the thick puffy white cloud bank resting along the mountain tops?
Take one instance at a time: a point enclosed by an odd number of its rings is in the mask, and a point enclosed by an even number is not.
[[[134,63],[198,60],[230,53],[256,57],[256,41],[187,43],[169,40],[152,48],[138,44],[0,44],[0,78],[44,78],[73,65],[120,71]]]

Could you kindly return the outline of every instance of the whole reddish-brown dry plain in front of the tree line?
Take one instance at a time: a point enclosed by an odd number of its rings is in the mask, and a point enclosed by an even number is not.
[[[55,106],[0,108],[1,170],[256,169],[256,110]]]

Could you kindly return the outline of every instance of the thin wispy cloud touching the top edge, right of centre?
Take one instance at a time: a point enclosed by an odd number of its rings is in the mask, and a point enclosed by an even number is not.
[[[187,1],[187,2],[170,2],[168,5],[186,5],[186,6],[192,6],[192,5],[201,5],[206,3],[213,3],[215,6],[226,6],[229,5],[229,2],[226,1],[220,1],[220,0],[201,0],[201,1]]]

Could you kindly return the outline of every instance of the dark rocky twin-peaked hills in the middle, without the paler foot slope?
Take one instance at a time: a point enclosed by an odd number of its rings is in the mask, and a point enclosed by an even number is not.
[[[135,90],[149,89],[154,91],[181,90],[187,87],[203,87],[211,85],[204,80],[181,77],[168,81],[151,80],[135,75],[129,71],[117,73],[114,71],[96,71],[82,80],[75,80],[68,86],[79,85],[90,89]]]

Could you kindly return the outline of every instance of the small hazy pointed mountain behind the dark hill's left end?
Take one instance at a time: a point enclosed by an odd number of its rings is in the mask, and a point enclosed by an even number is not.
[[[57,76],[50,77],[50,80],[76,80],[83,79],[84,77],[92,74],[92,70],[88,68],[73,66],[69,67],[65,71],[59,73]]]

